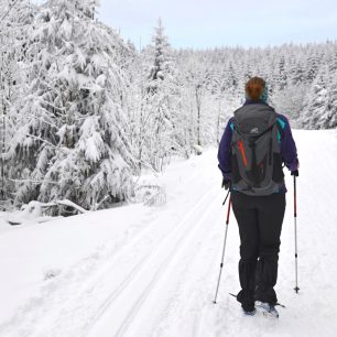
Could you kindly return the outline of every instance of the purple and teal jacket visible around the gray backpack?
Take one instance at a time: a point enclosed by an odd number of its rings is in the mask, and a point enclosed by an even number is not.
[[[251,101],[246,100],[246,105],[253,105],[253,104],[265,104],[262,100],[259,101]],[[222,173],[224,178],[230,180],[231,178],[231,135],[232,135],[232,119],[230,118],[225,132],[222,134],[220,144],[219,144],[219,151],[218,151],[218,161],[219,161],[219,168]],[[289,120],[283,115],[278,113],[278,122],[280,123],[283,134],[281,138],[281,154],[282,154],[282,161],[285,164],[285,166],[290,171],[295,171],[298,168],[298,159],[297,159],[297,150],[296,144],[292,135],[292,130],[289,123]],[[286,188],[285,185],[282,186],[280,189],[281,193],[285,193]]]

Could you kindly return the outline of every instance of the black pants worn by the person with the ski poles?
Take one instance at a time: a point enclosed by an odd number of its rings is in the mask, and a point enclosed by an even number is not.
[[[238,301],[251,311],[254,301],[275,304],[280,236],[285,210],[285,194],[248,196],[231,194],[232,209],[239,225],[241,291]]]

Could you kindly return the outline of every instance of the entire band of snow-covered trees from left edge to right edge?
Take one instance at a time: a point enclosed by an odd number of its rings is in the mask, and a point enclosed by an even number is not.
[[[97,20],[98,1],[0,0],[0,205],[129,199],[143,170],[216,144],[265,77],[305,128],[337,126],[337,44],[173,50],[159,21],[137,51]]]

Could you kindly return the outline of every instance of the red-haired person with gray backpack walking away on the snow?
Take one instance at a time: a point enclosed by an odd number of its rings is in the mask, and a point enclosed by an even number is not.
[[[259,301],[279,316],[274,286],[285,211],[282,164],[298,176],[298,160],[289,120],[268,104],[263,78],[247,81],[246,101],[227,123],[218,162],[239,227],[241,290],[237,300],[248,315],[256,313]]]

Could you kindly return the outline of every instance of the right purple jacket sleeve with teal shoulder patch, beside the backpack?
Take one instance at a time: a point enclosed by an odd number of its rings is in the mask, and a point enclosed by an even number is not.
[[[281,123],[283,122],[283,138],[281,143],[282,160],[290,171],[298,168],[297,149],[293,139],[292,130],[289,120],[284,116],[280,116]]]

